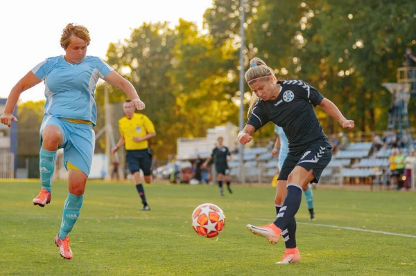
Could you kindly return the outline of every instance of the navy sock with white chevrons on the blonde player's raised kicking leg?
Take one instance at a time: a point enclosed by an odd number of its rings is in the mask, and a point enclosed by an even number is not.
[[[292,217],[295,217],[297,210],[299,210],[300,202],[302,201],[302,188],[297,185],[288,185],[288,194],[284,203],[280,208],[277,219],[275,220],[275,226],[281,230],[286,229],[289,221]]]

